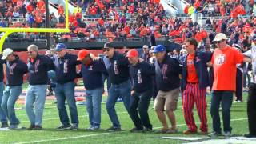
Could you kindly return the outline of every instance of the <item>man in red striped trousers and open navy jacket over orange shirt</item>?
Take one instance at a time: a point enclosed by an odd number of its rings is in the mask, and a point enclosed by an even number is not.
[[[206,87],[209,86],[207,62],[210,61],[211,53],[197,51],[197,47],[196,39],[186,39],[185,48],[188,54],[182,67],[182,106],[188,129],[183,131],[183,134],[195,134],[198,131],[193,116],[194,103],[201,121],[201,133],[208,132]]]

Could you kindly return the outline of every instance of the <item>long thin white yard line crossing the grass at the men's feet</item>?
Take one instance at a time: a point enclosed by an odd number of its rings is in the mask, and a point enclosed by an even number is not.
[[[231,119],[231,121],[242,121],[242,120],[246,120],[247,118],[237,118],[237,119]],[[200,122],[196,122],[197,124]],[[212,122],[208,122],[208,123],[212,123]],[[177,126],[186,126],[185,124],[180,124]],[[154,127],[153,129],[160,129],[161,127]],[[122,133],[125,131],[121,131],[118,133]],[[52,141],[58,141],[58,140],[66,140],[66,139],[74,139],[74,138],[86,138],[86,137],[94,137],[94,136],[98,136],[98,135],[106,135],[106,134],[117,134],[117,133],[100,133],[100,134],[86,134],[86,135],[80,135],[80,136],[76,136],[76,137],[68,137],[68,138],[55,138],[55,139],[44,139],[44,140],[39,140],[39,141],[30,141],[30,142],[18,142],[16,144],[25,144],[25,143],[37,143],[37,142],[52,142]]]

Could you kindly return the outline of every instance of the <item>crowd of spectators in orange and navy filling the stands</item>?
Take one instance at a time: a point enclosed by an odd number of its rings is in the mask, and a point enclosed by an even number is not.
[[[73,1],[81,10],[69,16],[70,33],[62,34],[60,38],[78,38],[82,41],[126,41],[138,38],[147,41],[150,37],[172,38],[182,42],[185,38],[194,37],[198,42],[210,46],[214,34],[227,34],[234,43],[246,43],[246,38],[254,31],[254,1],[246,3],[243,0],[190,0],[190,6],[209,18],[202,26],[193,22],[188,13],[186,20],[167,18],[158,0],[90,0]],[[214,9],[206,7],[214,6]],[[223,10],[223,8],[225,9]],[[250,9],[246,9],[250,7]],[[214,11],[212,11],[214,10]],[[86,22],[94,18],[94,22]],[[214,15],[222,15],[215,19]],[[250,17],[242,18],[242,15]],[[0,17],[2,27],[45,27],[44,0],[5,0],[0,2]],[[18,21],[22,19],[22,21]],[[135,21],[132,21],[134,19]],[[50,14],[50,27],[65,27],[64,7],[58,6],[58,15]],[[23,34],[24,37],[40,38],[37,34]],[[35,36],[36,35],[36,36]],[[43,34],[42,34],[43,35]]]

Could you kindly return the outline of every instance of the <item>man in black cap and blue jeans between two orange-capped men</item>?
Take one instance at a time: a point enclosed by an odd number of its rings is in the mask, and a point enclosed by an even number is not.
[[[114,105],[115,102],[117,102],[118,97],[121,97],[126,110],[129,113],[131,90],[129,61],[128,58],[126,58],[123,54],[114,51],[114,46],[110,42],[106,42],[103,52],[105,54],[103,61],[111,82],[106,100],[106,110],[110,116],[113,126],[107,130],[120,131],[121,125],[118,120],[118,115],[114,109]]]

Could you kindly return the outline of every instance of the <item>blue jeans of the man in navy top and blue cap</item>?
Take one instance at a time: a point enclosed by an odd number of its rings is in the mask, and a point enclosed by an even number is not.
[[[78,126],[78,110],[74,99],[74,82],[57,83],[55,96],[57,98],[58,115],[62,124],[65,126],[70,125],[70,119],[66,112],[66,101],[70,108],[71,123]]]

